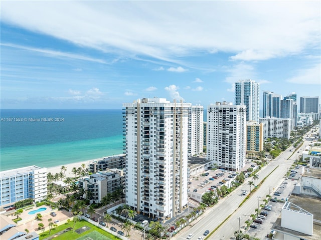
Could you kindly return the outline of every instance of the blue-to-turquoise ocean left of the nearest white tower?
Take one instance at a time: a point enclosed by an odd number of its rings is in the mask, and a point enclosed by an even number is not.
[[[1,109],[0,170],[123,153],[121,109]]]

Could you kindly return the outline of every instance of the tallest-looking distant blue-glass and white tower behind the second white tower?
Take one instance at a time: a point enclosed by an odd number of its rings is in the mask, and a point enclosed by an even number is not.
[[[235,83],[235,105],[246,106],[246,121],[259,121],[260,84],[253,80]]]

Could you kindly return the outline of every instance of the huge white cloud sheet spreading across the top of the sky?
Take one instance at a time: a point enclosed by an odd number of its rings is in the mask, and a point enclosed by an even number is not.
[[[172,62],[196,50],[263,60],[320,43],[318,1],[3,1],[2,22],[103,52]]]

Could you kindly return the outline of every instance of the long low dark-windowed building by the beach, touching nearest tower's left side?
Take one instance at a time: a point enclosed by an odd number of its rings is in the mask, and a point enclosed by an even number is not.
[[[89,171],[96,173],[97,171],[105,171],[107,169],[123,169],[125,168],[125,155],[117,155],[104,157],[100,160],[92,160],[88,165]]]

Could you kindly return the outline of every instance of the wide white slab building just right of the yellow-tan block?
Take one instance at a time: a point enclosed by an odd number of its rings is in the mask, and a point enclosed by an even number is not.
[[[260,123],[263,123],[263,138],[286,138],[290,139],[291,119],[265,117],[260,118]]]

